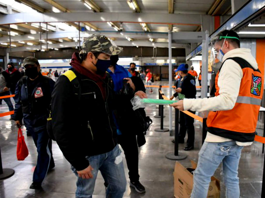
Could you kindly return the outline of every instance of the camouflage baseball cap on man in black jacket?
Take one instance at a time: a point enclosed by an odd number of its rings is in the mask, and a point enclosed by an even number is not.
[[[110,41],[107,36],[93,34],[84,40],[79,56],[89,52],[103,52],[112,56],[121,53],[122,49],[122,47],[118,47],[114,42]]]

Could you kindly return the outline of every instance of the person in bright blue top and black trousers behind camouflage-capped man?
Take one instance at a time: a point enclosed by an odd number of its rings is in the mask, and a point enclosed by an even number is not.
[[[127,167],[129,169],[130,186],[137,192],[144,193],[145,188],[139,182],[140,176],[138,171],[138,146],[140,147],[145,143],[144,133],[138,130],[139,126],[137,126],[137,123],[128,127],[128,123],[123,118],[126,120],[135,119],[135,116],[133,116],[135,115],[135,112],[131,105],[131,99],[134,95],[138,95],[140,98],[147,98],[147,95],[145,94],[143,81],[137,76],[132,76],[124,67],[116,64],[118,56],[112,56],[111,60],[111,66],[107,71],[114,83],[114,91],[117,100],[117,114],[120,114],[118,118],[116,118],[118,120],[115,119],[118,143],[121,145],[125,153]],[[120,94],[121,90],[124,88],[124,80],[127,80],[127,83],[133,89],[132,93],[126,95]]]

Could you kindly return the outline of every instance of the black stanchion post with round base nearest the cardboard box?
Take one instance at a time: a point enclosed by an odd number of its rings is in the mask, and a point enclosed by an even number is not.
[[[179,152],[179,110],[175,109],[175,145],[174,152],[166,154],[167,159],[182,160],[186,159],[188,155]]]

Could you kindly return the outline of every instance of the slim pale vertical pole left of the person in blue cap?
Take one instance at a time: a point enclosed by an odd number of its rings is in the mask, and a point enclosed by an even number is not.
[[[172,44],[172,33],[171,30],[168,31],[168,58],[169,58],[169,65],[168,65],[168,70],[169,70],[169,97],[172,96],[172,49],[171,49],[171,44]],[[172,107],[169,107],[169,134],[170,136],[172,134]]]

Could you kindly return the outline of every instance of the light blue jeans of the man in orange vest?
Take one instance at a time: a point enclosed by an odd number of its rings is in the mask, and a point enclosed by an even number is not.
[[[235,141],[204,142],[199,152],[199,160],[193,175],[191,198],[207,197],[211,176],[223,162],[223,176],[226,185],[226,197],[239,198],[238,164],[243,146]]]

